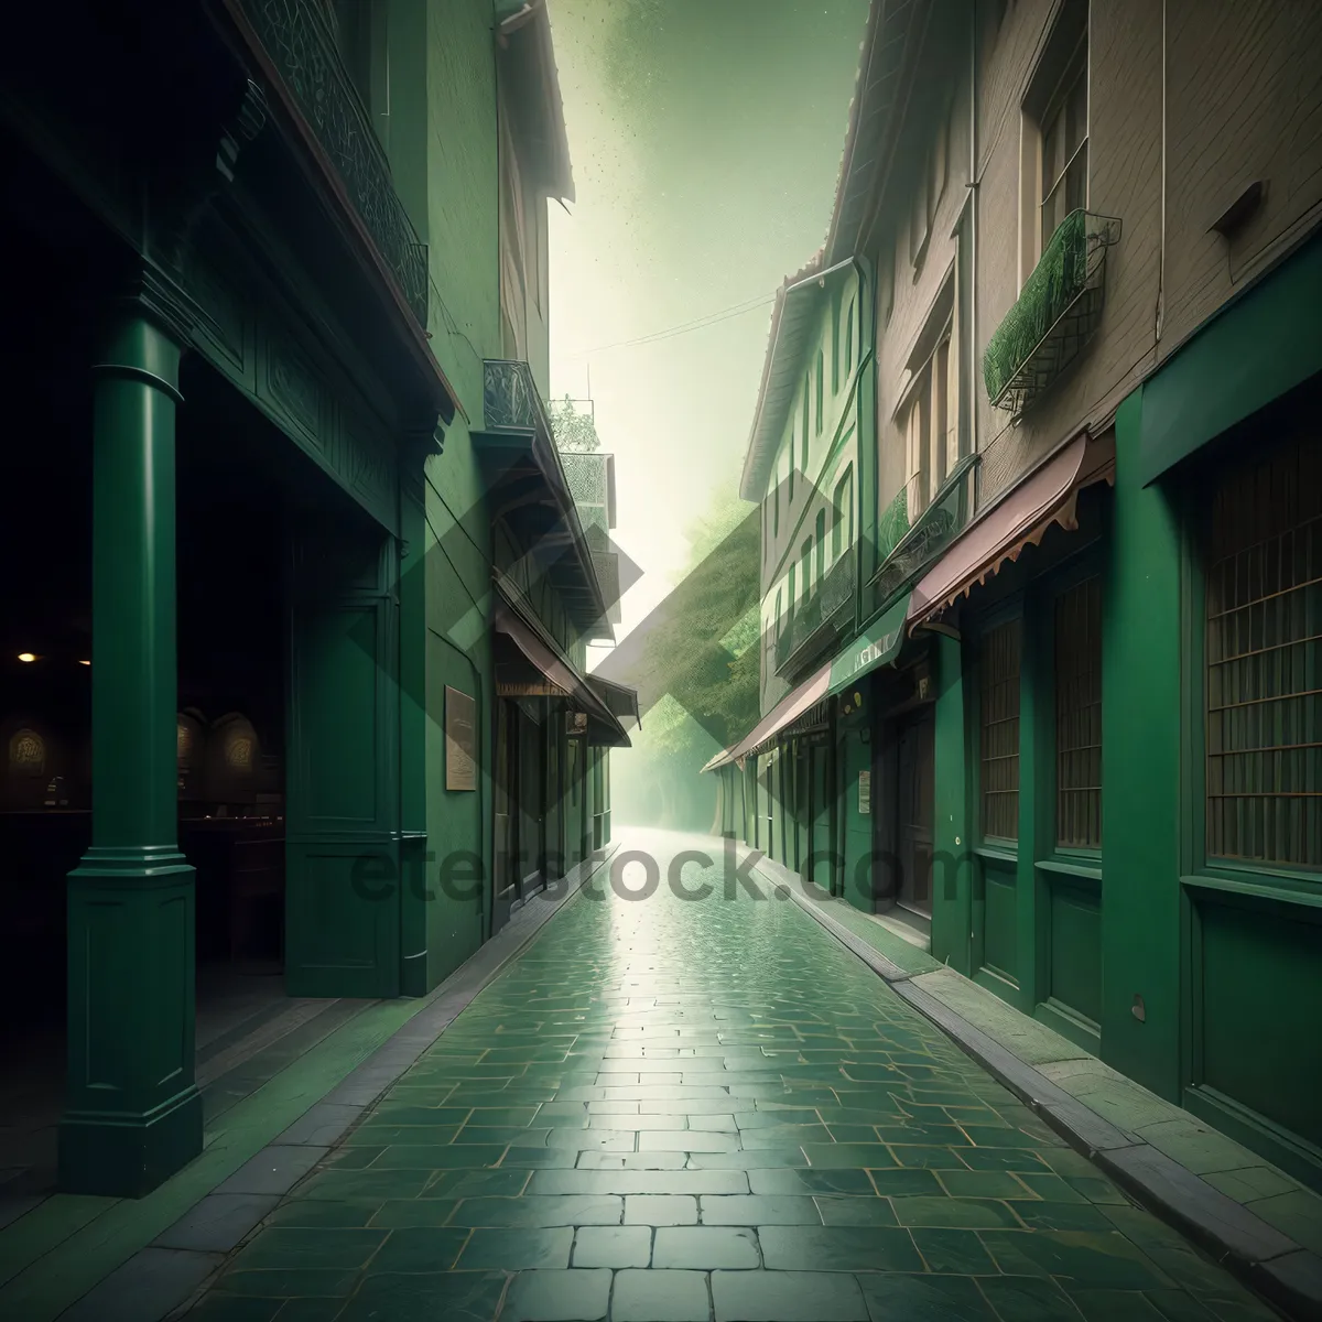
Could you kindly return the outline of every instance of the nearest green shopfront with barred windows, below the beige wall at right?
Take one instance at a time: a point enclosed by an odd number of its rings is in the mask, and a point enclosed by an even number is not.
[[[1319,308],[1314,238],[1121,403],[1108,483],[943,615],[932,917],[937,958],[1314,1185]]]

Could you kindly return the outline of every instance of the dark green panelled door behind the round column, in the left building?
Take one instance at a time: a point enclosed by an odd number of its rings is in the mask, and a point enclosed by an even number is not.
[[[291,541],[286,988],[397,997],[397,543],[348,520]]]

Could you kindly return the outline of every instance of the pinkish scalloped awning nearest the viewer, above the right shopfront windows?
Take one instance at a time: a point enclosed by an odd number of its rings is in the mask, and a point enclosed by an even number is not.
[[[972,524],[914,588],[910,631],[985,583],[1025,546],[1036,546],[1052,525],[1073,529],[1075,501],[1084,486],[1110,481],[1114,434],[1095,440],[1080,432],[1062,451]]]

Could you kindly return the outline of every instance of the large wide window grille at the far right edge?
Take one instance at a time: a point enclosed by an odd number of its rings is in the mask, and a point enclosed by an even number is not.
[[[1322,867],[1322,448],[1229,475],[1207,545],[1207,854]]]

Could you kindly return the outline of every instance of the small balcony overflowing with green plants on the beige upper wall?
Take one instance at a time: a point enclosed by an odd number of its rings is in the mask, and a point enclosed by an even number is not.
[[[1071,212],[982,354],[988,398],[1013,419],[1079,356],[1101,323],[1107,249],[1120,221]]]

